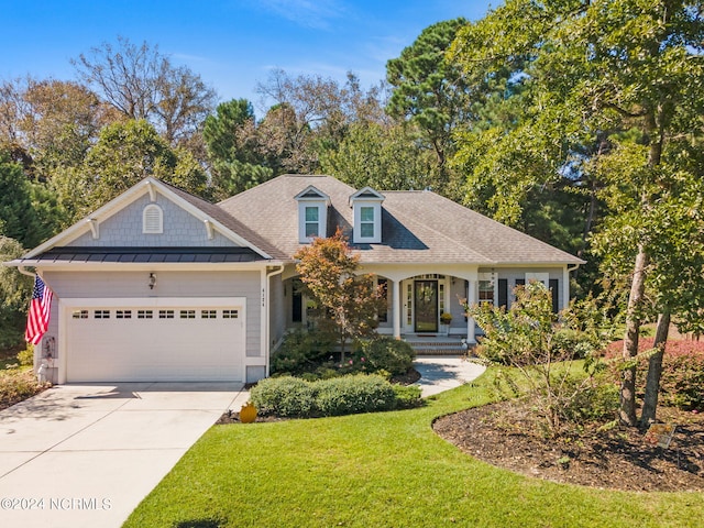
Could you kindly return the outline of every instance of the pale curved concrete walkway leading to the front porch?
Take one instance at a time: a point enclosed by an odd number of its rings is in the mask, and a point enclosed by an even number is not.
[[[414,366],[420,373],[416,385],[420,386],[424,398],[470,383],[486,370],[465,358],[438,355],[420,355]]]

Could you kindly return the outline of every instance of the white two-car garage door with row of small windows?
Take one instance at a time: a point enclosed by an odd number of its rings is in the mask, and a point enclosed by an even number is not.
[[[131,300],[65,311],[68,382],[243,381],[244,299]]]

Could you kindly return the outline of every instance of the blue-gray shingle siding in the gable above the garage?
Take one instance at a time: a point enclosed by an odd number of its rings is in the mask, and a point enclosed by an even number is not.
[[[151,204],[157,205],[163,212],[164,230],[162,233],[142,232],[142,213]],[[69,245],[79,248],[232,248],[234,242],[219,232],[208,239],[208,230],[202,220],[194,217],[179,206],[156,195],[156,201],[151,201],[148,195],[136,199],[112,217],[98,226],[98,239],[94,239],[89,231]]]

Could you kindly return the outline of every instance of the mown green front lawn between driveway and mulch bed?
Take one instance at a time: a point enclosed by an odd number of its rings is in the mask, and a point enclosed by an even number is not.
[[[491,373],[419,409],[216,426],[127,527],[689,527],[704,494],[543,482],[469,457],[433,418],[491,400]]]

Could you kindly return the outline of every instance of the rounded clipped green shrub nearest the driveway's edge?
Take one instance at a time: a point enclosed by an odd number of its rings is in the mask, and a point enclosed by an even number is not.
[[[260,381],[250,397],[262,415],[307,417],[315,409],[315,389],[304,380],[282,376]]]

